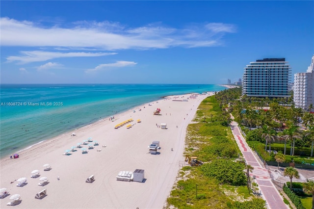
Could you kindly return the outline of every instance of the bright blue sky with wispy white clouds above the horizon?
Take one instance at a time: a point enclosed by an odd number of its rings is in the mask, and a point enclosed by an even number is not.
[[[1,83],[195,83],[306,72],[314,1],[0,1]]]

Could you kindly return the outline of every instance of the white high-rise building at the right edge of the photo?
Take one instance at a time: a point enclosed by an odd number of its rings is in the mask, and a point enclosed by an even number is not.
[[[314,105],[314,55],[306,73],[294,74],[293,102],[296,107],[313,111],[309,106]]]

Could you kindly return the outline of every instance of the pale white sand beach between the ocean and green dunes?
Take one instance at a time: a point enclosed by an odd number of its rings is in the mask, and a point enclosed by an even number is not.
[[[7,188],[10,195],[0,199],[0,208],[9,208],[6,206],[11,201],[9,198],[20,194],[22,202],[14,208],[161,209],[180,164],[184,164],[186,127],[201,101],[212,94],[198,95],[188,99],[188,102],[173,101],[187,99],[190,95],[169,96],[151,105],[143,104],[114,115],[114,121],[104,119],[47,140],[19,153],[17,159],[10,159],[9,156],[2,159],[0,188]],[[160,115],[153,115],[156,108],[161,109]],[[117,124],[131,118],[131,124],[135,124],[130,129],[126,125],[114,129]],[[137,119],[141,123],[137,123]],[[156,124],[160,123],[166,123],[167,129],[157,128]],[[71,136],[72,132],[76,135]],[[62,155],[89,137],[100,144],[88,154],[82,154],[77,148],[76,152],[69,152],[71,155]],[[156,140],[160,142],[160,154],[151,155],[148,146]],[[50,171],[44,171],[46,163],[52,166]],[[40,171],[40,177],[30,178],[31,172],[36,169]],[[120,171],[133,172],[135,169],[144,170],[142,183],[116,180]],[[95,181],[85,183],[91,175],[95,176]],[[18,187],[16,180],[21,177],[27,178],[27,184]],[[47,177],[50,183],[37,185],[41,177]],[[47,189],[47,196],[35,199],[36,193],[43,189]]]

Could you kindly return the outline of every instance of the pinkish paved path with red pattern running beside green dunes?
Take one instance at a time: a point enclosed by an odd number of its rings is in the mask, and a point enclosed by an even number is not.
[[[231,123],[231,130],[247,164],[254,167],[254,170],[250,173],[250,176],[256,177],[256,183],[259,184],[259,187],[262,191],[262,198],[266,201],[267,208],[289,209],[288,205],[284,203],[283,198],[279,194],[275,185],[271,182],[267,170],[262,167],[258,159],[252,153],[251,148],[247,145],[245,139],[239,131],[238,124],[234,121]]]

